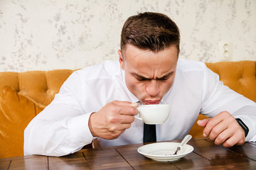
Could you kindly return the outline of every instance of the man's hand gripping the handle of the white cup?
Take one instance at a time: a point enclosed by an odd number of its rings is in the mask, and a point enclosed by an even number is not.
[[[129,101],[112,101],[100,111],[92,113],[88,123],[92,136],[105,140],[114,140],[119,137],[134,122],[138,105]]]

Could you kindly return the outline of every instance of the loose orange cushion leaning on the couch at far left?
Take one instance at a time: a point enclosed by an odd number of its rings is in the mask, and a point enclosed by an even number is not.
[[[11,86],[4,86],[0,98],[1,104],[1,154],[6,157],[22,155],[23,130],[26,125],[46,106],[18,94]]]

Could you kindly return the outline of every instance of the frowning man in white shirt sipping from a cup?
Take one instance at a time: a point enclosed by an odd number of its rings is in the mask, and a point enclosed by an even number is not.
[[[156,141],[181,139],[198,113],[211,117],[198,125],[216,145],[255,141],[256,103],[223,86],[205,64],[178,59],[179,42],[178,27],[167,16],[129,17],[119,63],[74,72],[29,123],[24,153],[61,156],[91,142],[93,147],[145,142],[144,123],[134,119],[139,103],[171,106],[168,120],[156,125]]]

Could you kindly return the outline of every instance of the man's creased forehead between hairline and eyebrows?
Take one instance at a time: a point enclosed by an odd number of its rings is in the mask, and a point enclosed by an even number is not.
[[[125,71],[148,77],[159,77],[162,74],[174,72],[178,61],[178,52],[175,45],[166,47],[159,52],[142,50],[134,45],[127,45],[122,55]]]

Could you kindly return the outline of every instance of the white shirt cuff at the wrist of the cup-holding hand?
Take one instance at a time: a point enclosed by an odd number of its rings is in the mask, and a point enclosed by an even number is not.
[[[70,136],[74,143],[82,142],[84,145],[90,144],[95,137],[92,136],[88,126],[89,118],[92,113],[85,113],[72,118],[68,123]]]

